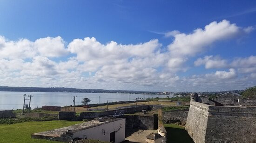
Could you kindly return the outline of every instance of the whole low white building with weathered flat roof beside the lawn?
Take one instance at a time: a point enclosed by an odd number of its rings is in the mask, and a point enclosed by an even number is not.
[[[96,139],[121,143],[125,140],[125,118],[95,118],[81,124],[35,133],[31,137],[62,142],[71,142],[73,139]]]

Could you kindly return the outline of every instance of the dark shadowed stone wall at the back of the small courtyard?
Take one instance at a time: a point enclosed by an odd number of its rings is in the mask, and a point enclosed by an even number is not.
[[[125,118],[126,129],[143,129],[143,130],[154,130],[157,129],[157,122],[155,122],[156,115],[143,116],[143,115],[124,115],[121,118]]]

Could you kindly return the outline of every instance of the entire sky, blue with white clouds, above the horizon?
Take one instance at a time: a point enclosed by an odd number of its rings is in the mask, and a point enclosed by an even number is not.
[[[244,89],[255,17],[255,0],[1,0],[0,85]]]

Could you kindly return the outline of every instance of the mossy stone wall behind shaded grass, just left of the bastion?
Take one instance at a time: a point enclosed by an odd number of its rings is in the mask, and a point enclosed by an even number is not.
[[[188,118],[189,109],[183,110],[173,110],[173,111],[163,111],[162,121],[164,124],[180,123],[185,125]]]

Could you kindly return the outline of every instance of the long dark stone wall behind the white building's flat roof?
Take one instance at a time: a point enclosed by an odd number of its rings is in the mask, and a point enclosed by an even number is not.
[[[110,110],[110,111],[103,111],[103,112],[81,112],[80,118],[93,119],[97,117],[114,115],[115,112],[120,112],[120,111],[123,111],[124,114],[130,114],[130,113],[140,112],[142,110],[150,110],[151,108],[152,107],[148,105],[141,105],[141,106],[133,106],[133,107],[123,108],[119,110]]]

